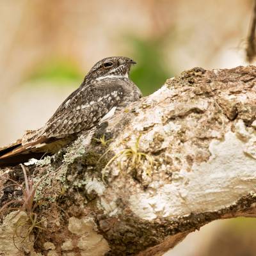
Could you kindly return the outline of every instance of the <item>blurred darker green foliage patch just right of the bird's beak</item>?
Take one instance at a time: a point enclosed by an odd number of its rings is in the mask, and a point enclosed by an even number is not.
[[[131,79],[136,83],[143,95],[149,95],[160,88],[166,79],[173,76],[165,63],[162,51],[164,39],[141,39],[134,36],[128,38],[134,60],[137,64],[132,67]]]

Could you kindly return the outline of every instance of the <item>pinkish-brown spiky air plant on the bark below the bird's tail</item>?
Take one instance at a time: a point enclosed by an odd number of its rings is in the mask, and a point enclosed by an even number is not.
[[[13,216],[13,218],[15,218],[21,211],[26,212],[26,216],[24,215],[20,216],[20,218],[15,223],[15,228],[13,233],[14,244],[15,244],[15,237],[22,238],[21,240],[21,244],[22,244],[29,237],[31,232],[35,230],[35,228],[39,230],[44,229],[40,225],[42,220],[38,220],[38,214],[36,214],[35,212],[35,209],[38,206],[38,202],[36,203],[34,202],[36,189],[42,182],[42,179],[40,179],[39,182],[36,185],[34,185],[33,180],[28,179],[24,166],[22,164],[20,164],[20,166],[22,167],[22,171],[24,174],[25,188],[23,188],[22,185],[20,185],[18,182],[12,179],[9,179],[9,180],[11,180],[13,184],[5,186],[4,188],[8,188],[10,186],[18,186],[19,188],[22,189],[22,192],[23,192],[22,200],[11,200],[10,202],[4,204],[3,207],[1,207],[0,209],[0,214],[3,213],[4,211],[19,210]],[[8,207],[8,205],[11,205],[11,204],[20,204],[20,207]],[[19,248],[17,249],[20,250]]]

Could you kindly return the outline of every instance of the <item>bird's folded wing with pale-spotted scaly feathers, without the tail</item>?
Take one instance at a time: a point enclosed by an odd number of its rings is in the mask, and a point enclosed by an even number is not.
[[[118,79],[119,80],[119,79]],[[42,136],[63,138],[92,128],[124,97],[122,80],[97,81],[97,84],[80,86],[49,119]]]

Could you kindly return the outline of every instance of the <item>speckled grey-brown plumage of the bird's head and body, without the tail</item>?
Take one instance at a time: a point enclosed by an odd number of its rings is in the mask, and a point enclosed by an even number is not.
[[[104,63],[113,63],[113,66],[102,68]],[[63,138],[90,129],[113,107],[124,107],[140,99],[140,90],[129,79],[131,63],[132,60],[126,57],[110,57],[97,62],[37,136]]]

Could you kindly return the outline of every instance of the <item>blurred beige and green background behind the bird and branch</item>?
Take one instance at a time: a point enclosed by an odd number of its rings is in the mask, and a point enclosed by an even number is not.
[[[144,95],[193,67],[247,65],[252,0],[1,0],[0,146],[47,122],[86,72],[129,56]],[[256,255],[256,223],[223,220],[166,255]]]

